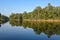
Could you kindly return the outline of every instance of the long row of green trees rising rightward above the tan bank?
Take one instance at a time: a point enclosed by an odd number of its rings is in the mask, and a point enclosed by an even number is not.
[[[50,3],[45,8],[36,7],[32,12],[12,13],[11,19],[60,19],[60,6],[52,6]]]

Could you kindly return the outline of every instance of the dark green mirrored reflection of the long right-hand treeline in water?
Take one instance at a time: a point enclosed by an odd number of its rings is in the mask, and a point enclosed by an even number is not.
[[[21,22],[21,21],[10,21],[12,26],[22,26],[24,28],[32,28],[34,32],[40,35],[42,32],[50,38],[52,35],[60,35],[60,23],[49,23],[49,22]]]

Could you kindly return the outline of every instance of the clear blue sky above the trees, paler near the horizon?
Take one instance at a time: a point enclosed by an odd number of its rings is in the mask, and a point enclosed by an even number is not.
[[[10,16],[11,13],[30,12],[36,6],[46,7],[48,3],[60,6],[60,0],[0,0],[0,13]]]

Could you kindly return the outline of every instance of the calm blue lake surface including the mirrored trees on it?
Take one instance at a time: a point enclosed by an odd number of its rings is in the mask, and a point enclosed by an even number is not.
[[[0,24],[0,40],[60,40],[60,23],[9,21]]]

